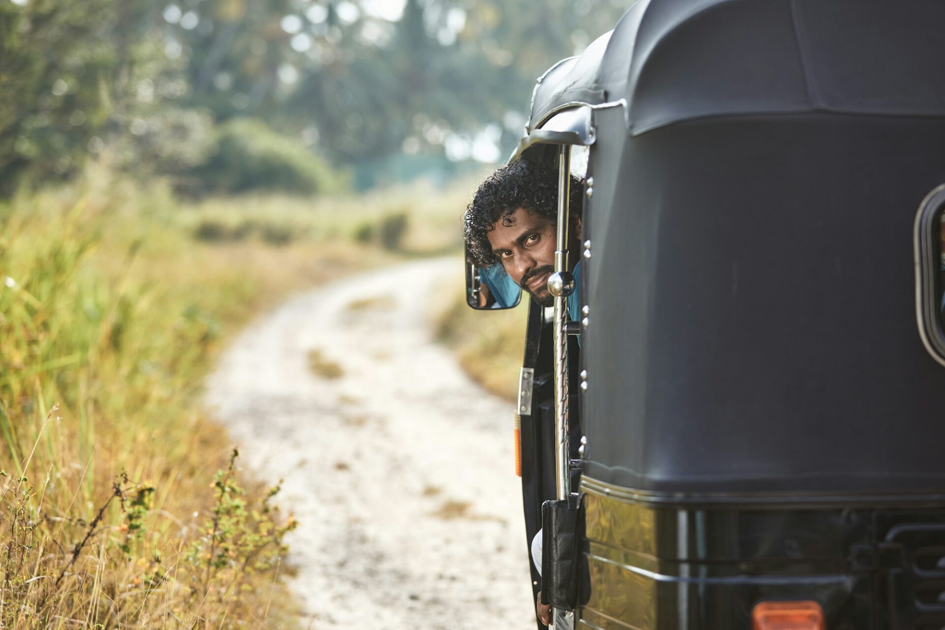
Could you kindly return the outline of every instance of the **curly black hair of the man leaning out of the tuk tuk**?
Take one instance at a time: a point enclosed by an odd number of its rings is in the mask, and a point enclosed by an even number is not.
[[[571,218],[580,216],[583,196],[580,180],[571,176]],[[558,222],[558,169],[516,160],[502,166],[479,184],[472,203],[463,217],[463,235],[476,264],[490,266],[499,262],[492,253],[489,232],[498,221],[524,208]]]

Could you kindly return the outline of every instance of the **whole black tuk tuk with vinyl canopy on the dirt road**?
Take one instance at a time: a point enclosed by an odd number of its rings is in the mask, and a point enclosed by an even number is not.
[[[943,26],[639,0],[539,79],[510,162],[558,164],[555,306],[517,421],[558,630],[945,628]]]

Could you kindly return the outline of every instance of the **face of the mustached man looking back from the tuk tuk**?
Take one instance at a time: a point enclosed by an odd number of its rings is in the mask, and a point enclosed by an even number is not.
[[[508,276],[541,306],[555,298],[548,292],[548,277],[555,272],[556,228],[548,218],[518,208],[499,219],[489,232],[489,242]]]

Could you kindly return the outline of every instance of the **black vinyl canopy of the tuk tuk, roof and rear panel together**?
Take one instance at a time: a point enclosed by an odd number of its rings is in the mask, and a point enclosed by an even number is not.
[[[541,80],[532,128],[626,100],[593,110],[588,478],[945,495],[913,249],[942,25],[939,0],[641,0]]]

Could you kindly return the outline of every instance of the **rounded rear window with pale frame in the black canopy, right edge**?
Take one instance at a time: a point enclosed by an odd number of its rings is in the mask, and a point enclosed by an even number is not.
[[[916,308],[922,343],[945,366],[945,185],[916,216]]]

